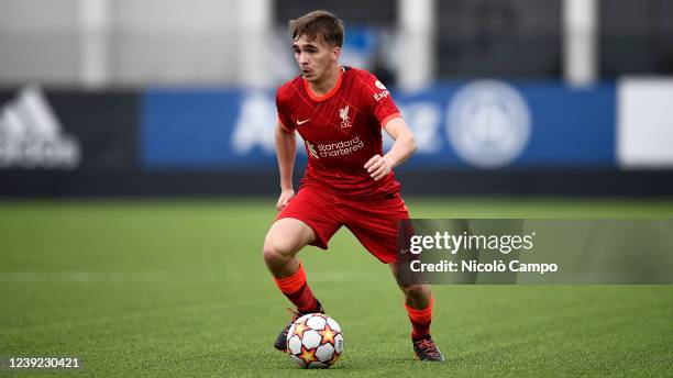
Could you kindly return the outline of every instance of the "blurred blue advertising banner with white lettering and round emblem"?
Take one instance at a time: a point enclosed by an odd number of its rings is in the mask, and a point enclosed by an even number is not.
[[[570,89],[556,82],[477,80],[394,97],[418,142],[402,169],[616,167],[611,84]],[[143,94],[141,107],[145,168],[276,164],[273,91],[154,89]]]

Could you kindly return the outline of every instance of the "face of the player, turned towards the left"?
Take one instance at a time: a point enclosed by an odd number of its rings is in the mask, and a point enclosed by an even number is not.
[[[320,82],[330,68],[336,65],[340,47],[330,47],[320,38],[309,40],[301,35],[293,43],[295,60],[304,78],[310,82]]]

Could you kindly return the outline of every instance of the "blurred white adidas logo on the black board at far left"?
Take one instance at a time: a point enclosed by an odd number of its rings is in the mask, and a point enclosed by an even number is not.
[[[0,112],[0,169],[74,169],[81,159],[78,141],[63,126],[41,88],[27,86]]]

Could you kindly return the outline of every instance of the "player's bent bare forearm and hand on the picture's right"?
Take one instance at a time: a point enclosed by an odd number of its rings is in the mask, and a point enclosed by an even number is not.
[[[388,121],[383,129],[395,143],[387,154],[384,156],[374,155],[365,164],[365,169],[375,181],[386,177],[393,168],[402,164],[416,151],[413,134],[401,116]]]

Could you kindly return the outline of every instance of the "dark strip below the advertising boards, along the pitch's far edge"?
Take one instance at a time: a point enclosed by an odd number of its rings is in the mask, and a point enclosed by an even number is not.
[[[397,177],[402,184],[406,196],[673,198],[673,170],[427,170],[402,171]],[[184,173],[0,171],[1,199],[225,197],[277,193],[278,174],[275,169]]]

